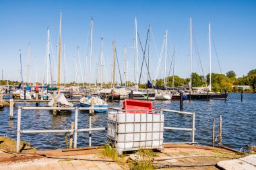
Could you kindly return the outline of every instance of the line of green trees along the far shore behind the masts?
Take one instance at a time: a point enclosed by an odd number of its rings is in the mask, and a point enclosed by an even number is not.
[[[172,80],[174,79],[174,83],[172,83]],[[192,79],[192,87],[207,87],[210,85],[210,74],[206,75],[206,77],[203,77],[201,75],[198,75],[197,73],[192,73],[191,76]],[[190,78],[181,78],[177,75],[174,75],[174,77],[166,77],[166,85],[168,87],[188,87]],[[8,81],[9,85],[19,85],[20,82],[18,81]],[[153,82],[152,82],[153,83]],[[6,80],[0,80],[0,85],[6,85]],[[83,86],[82,83],[67,83],[66,86],[72,86],[72,85],[79,85]],[[41,83],[38,83],[38,85],[41,85]],[[85,84],[88,86],[88,83]],[[91,84],[92,87],[95,86],[94,83]],[[97,84],[100,86],[100,83]],[[126,83],[127,86],[134,86],[135,83],[128,81]],[[139,88],[146,88],[148,83],[140,83]],[[212,91],[216,92],[222,92],[224,90],[229,92],[237,92],[241,91],[241,89],[238,89],[238,87],[233,85],[249,85],[251,87],[251,90],[247,90],[249,92],[256,92],[256,69],[253,69],[247,73],[246,76],[238,77],[236,78],[236,73],[234,71],[228,71],[226,75],[218,74],[218,73],[212,73]],[[111,83],[103,83],[103,87],[110,87]],[[156,79],[156,86],[158,87],[164,87],[164,79]]]

